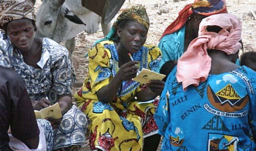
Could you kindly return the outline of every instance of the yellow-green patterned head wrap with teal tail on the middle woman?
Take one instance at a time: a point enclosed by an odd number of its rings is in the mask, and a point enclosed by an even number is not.
[[[117,20],[114,22],[109,34],[105,38],[96,41],[93,46],[105,40],[115,40],[115,33],[117,31],[117,27],[119,26],[119,22],[121,20],[129,20],[129,21],[137,22],[144,25],[146,29],[149,28],[149,18],[147,16],[145,7],[143,7],[142,5],[135,5],[135,6],[132,6],[131,8],[124,10],[118,16]]]

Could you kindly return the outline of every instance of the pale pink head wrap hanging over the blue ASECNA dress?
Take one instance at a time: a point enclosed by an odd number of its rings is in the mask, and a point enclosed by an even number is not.
[[[207,26],[219,26],[219,33],[208,32]],[[232,14],[216,14],[204,18],[199,25],[198,38],[188,46],[179,58],[176,78],[182,82],[183,90],[189,85],[198,86],[207,79],[211,69],[211,57],[207,50],[221,50],[235,54],[241,48],[241,21]]]

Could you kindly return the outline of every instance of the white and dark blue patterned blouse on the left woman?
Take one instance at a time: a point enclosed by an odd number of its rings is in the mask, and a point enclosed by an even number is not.
[[[8,37],[3,39],[4,35],[0,30],[0,65],[12,68],[22,77],[32,100],[47,96],[54,103],[58,95],[71,94],[75,75],[65,47],[44,38],[41,59],[37,63],[41,68],[34,68],[24,62],[20,50],[15,49]]]

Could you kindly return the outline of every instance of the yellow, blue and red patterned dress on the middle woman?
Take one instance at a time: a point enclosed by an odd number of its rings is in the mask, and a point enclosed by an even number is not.
[[[155,71],[161,59],[159,48],[144,45],[132,54],[139,61],[139,70]],[[103,41],[89,50],[89,74],[81,90],[75,94],[81,110],[91,120],[90,147],[103,151],[141,151],[143,137],[157,134],[153,114],[158,104],[138,103],[135,94],[145,89],[133,80],[123,81],[117,97],[111,103],[97,99],[97,91],[108,85],[119,71],[118,53],[113,41]]]

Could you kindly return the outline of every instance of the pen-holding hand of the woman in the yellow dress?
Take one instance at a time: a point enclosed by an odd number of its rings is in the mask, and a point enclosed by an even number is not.
[[[129,61],[122,65],[117,73],[117,76],[121,81],[130,80],[137,75],[138,67],[135,65],[138,61]]]

